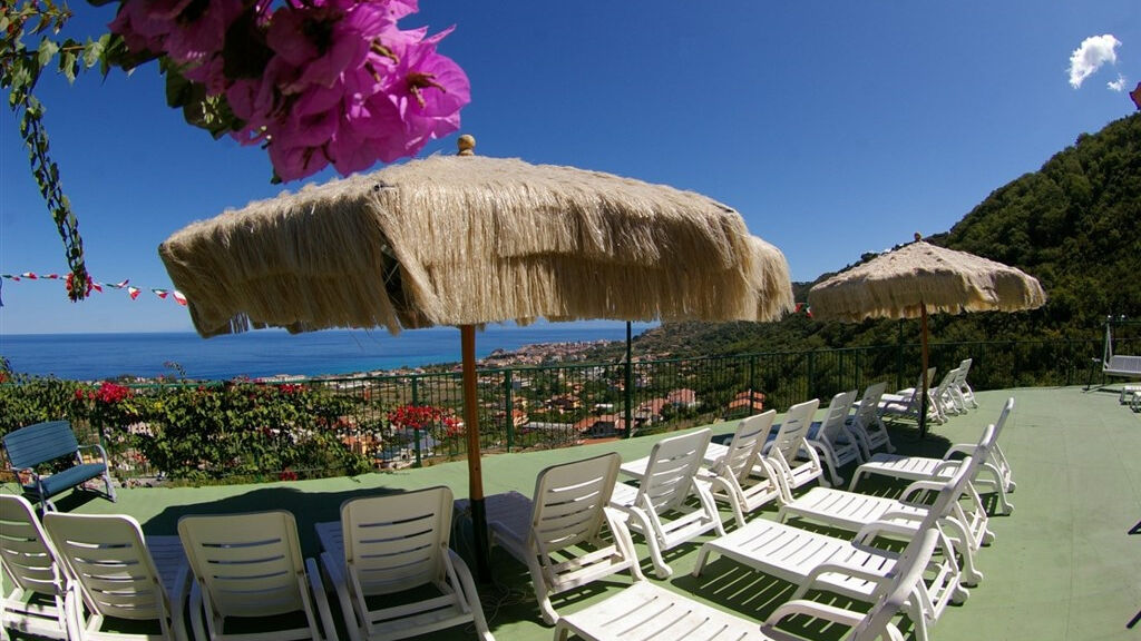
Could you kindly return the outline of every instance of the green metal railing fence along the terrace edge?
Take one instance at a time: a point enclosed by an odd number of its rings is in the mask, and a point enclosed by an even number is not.
[[[1122,351],[1135,351],[1136,347],[1141,344],[1118,342]],[[814,397],[826,403],[839,391],[863,390],[877,381],[887,381],[889,389],[911,387],[920,374],[919,349],[917,344],[891,344],[632,364],[483,370],[477,387],[480,446],[486,453],[567,447],[591,439],[624,438],[731,420],[761,407],[784,411]],[[969,381],[977,390],[1098,383],[1100,365],[1094,359],[1100,355],[1101,341],[930,346],[930,362],[940,373],[964,358],[972,358]],[[335,430],[338,440],[358,452],[371,466],[426,465],[466,455],[462,425],[455,424],[463,407],[459,372],[315,379],[289,384],[315,390],[316,403],[335,403],[335,421],[323,429]],[[169,393],[176,387],[136,386],[135,389],[146,396]],[[390,413],[402,406],[435,407],[452,419],[451,425],[444,421],[412,427],[394,423]],[[82,420],[75,422],[80,430],[100,431]],[[163,429],[154,417],[139,416],[139,423],[144,427],[130,429],[152,433]],[[130,439],[112,436],[124,433],[123,429],[118,425],[102,430],[120,474],[146,478],[165,472],[148,465],[127,445]],[[265,470],[267,478],[280,472]]]

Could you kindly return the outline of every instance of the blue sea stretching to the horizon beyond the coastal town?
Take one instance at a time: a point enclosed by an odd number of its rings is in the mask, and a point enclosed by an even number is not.
[[[634,323],[633,335],[654,324]],[[624,341],[621,322],[487,325],[476,332],[476,357],[536,343]],[[290,334],[258,330],[202,339],[193,332],[0,334],[0,357],[13,372],[67,380],[120,376],[252,379],[324,376],[420,367],[460,360],[460,330],[430,327],[391,335],[385,330]]]

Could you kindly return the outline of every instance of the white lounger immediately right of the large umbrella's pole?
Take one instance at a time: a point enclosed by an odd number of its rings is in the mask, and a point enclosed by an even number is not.
[[[492,538],[531,570],[548,624],[559,618],[551,606],[553,594],[622,570],[634,581],[645,578],[623,514],[607,506],[620,462],[610,453],[551,465],[535,480],[529,518],[488,524]],[[613,542],[602,538],[604,526]]]

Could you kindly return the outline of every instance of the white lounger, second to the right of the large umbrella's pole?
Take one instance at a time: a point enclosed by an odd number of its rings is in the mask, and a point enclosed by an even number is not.
[[[626,516],[630,530],[646,538],[658,578],[673,574],[663,551],[710,532],[725,534],[709,479],[697,478],[712,433],[704,429],[657,441],[638,487],[615,484],[610,495],[610,506]]]

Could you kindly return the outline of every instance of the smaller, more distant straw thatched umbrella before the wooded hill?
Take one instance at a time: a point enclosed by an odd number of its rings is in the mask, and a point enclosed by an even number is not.
[[[971,253],[920,240],[817,283],[808,292],[812,316],[820,320],[920,318],[923,386],[920,436],[926,433],[928,314],[1019,311],[1046,302],[1033,276]]]

